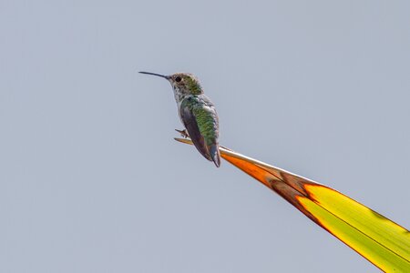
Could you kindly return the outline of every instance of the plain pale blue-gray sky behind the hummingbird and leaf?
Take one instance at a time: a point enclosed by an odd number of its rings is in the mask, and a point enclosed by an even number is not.
[[[408,1],[0,2],[1,272],[377,272],[173,140],[200,77],[220,143],[410,227]]]

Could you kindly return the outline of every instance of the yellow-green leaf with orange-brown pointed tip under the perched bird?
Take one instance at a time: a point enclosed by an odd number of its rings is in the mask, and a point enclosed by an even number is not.
[[[175,138],[192,144],[189,139]],[[314,223],[386,272],[410,272],[410,232],[331,187],[245,157],[226,147],[220,155],[271,188]]]

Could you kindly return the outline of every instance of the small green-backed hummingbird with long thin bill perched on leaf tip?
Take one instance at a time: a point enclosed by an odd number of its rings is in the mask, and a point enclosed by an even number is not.
[[[200,154],[216,167],[220,167],[219,118],[208,96],[196,76],[190,73],[175,73],[169,76],[150,72],[139,72],[160,76],[169,81],[178,106],[179,119],[186,129],[177,130],[182,136],[190,136]]]

